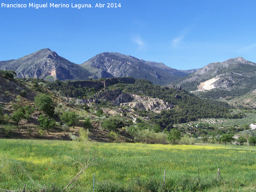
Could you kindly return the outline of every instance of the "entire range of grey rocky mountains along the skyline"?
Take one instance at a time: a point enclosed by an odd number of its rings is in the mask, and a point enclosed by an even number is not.
[[[17,60],[0,61],[0,68],[14,70],[19,78],[52,82],[131,76],[162,86],[180,84],[187,91],[214,99],[241,96],[256,89],[256,63],[242,57],[213,62],[200,69],[177,70],[118,52],[103,52],[76,64],[50,49],[42,49]]]

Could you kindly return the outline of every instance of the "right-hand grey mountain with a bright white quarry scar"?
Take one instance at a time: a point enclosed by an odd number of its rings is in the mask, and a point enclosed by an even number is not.
[[[256,89],[256,63],[236,57],[214,62],[176,81],[201,97],[235,98]]]

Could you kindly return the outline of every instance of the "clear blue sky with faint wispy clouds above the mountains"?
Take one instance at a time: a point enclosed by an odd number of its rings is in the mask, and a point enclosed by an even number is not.
[[[0,7],[0,60],[49,48],[81,64],[101,52],[120,52],[176,69],[244,57],[256,62],[255,1],[1,0],[47,8]],[[50,3],[69,8],[49,8]],[[91,4],[92,8],[71,8]],[[96,3],[105,4],[95,8]],[[121,7],[107,8],[107,3]]]

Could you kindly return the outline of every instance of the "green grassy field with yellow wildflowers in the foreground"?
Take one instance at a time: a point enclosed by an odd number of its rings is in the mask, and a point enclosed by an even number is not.
[[[78,153],[84,148],[82,142],[18,139],[1,139],[0,146],[0,188],[9,190],[17,187],[10,169],[30,189],[36,186],[27,174],[38,187],[44,184],[66,186],[79,169],[78,164],[66,156],[78,160]],[[152,183],[161,188],[164,170],[165,188],[169,191],[255,191],[254,146],[92,142],[91,154],[96,148],[95,161],[103,161],[85,170],[86,175],[74,191],[92,191],[93,173],[95,191],[114,191],[115,188],[125,191],[131,185],[137,186],[137,191],[146,191]],[[225,184],[223,180],[217,184],[218,168]]]

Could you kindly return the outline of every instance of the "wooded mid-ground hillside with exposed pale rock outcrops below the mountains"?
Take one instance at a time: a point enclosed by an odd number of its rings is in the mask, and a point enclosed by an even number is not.
[[[54,134],[44,134],[45,138],[69,139],[67,134],[63,135],[61,129],[63,122],[60,120],[60,115],[65,111],[73,111],[80,116],[79,123],[74,129],[70,128],[72,134],[78,134],[78,130],[83,127],[84,120],[88,117],[92,121],[91,138],[96,139],[98,135],[102,141],[107,139],[108,133],[106,128],[102,129],[102,126],[104,127],[104,122],[109,118],[113,122],[119,122],[116,125],[119,131],[122,127],[127,128],[127,131],[123,130],[120,138],[124,141],[125,138],[132,139],[133,136],[129,134],[128,129],[138,122],[142,122],[140,126],[143,125],[145,129],[157,127],[158,131],[168,131],[174,124],[199,118],[243,117],[242,114],[230,114],[230,107],[225,102],[199,99],[180,87],[161,87],[153,85],[148,80],[132,77],[49,82],[43,79],[15,79],[0,75],[0,81],[2,84],[0,104],[4,107],[1,114],[2,122],[10,121],[15,125],[10,120],[16,110],[15,106],[35,107],[36,95],[43,93],[52,98],[55,110],[51,118],[57,123],[52,130]],[[101,111],[100,115],[99,111]],[[38,137],[40,130],[38,118],[41,114],[48,116],[37,109],[30,119],[20,121],[23,137],[26,137],[27,132],[33,137]],[[137,119],[138,122],[135,122]],[[29,130],[32,130],[32,133]],[[182,129],[180,131],[184,134],[187,132]],[[191,130],[191,133],[195,134],[195,131]],[[4,131],[0,134],[4,135]],[[20,135],[16,136],[20,137]]]

